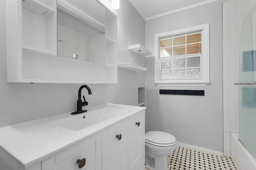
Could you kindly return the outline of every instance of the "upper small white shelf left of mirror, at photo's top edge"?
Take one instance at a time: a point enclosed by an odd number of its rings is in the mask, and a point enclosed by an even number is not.
[[[44,4],[39,0],[25,0],[22,1],[22,8],[30,10],[40,16],[48,17],[55,12],[54,8]]]

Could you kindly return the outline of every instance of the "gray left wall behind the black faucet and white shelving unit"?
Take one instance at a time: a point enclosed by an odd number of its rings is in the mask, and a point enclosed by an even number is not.
[[[5,6],[6,2],[0,0],[0,127],[76,110],[78,88],[82,84],[6,82]],[[145,43],[145,21],[128,0],[120,2],[120,10],[114,11],[118,16],[118,60],[128,57],[136,61],[136,64],[144,65],[145,59],[134,56],[127,46],[131,45],[129,43]],[[138,86],[145,86],[145,76],[118,69],[118,84],[87,85],[92,95],[89,96],[87,90],[82,90],[82,95],[89,102],[88,106],[108,102],[136,105]]]

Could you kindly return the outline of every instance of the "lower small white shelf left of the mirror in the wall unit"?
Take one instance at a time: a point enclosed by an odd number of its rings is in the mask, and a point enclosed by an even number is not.
[[[38,47],[32,47],[29,45],[22,45],[22,50],[26,53],[31,53],[35,55],[44,55],[48,57],[56,57],[56,52],[55,51],[50,51],[46,49],[41,49]]]

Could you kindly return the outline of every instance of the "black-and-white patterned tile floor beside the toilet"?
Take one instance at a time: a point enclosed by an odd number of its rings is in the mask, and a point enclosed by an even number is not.
[[[180,146],[169,160],[170,170],[236,170],[230,158]]]

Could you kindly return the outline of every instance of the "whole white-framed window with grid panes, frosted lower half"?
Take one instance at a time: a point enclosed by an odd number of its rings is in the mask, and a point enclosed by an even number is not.
[[[209,24],[155,34],[155,83],[206,86],[209,83]]]

